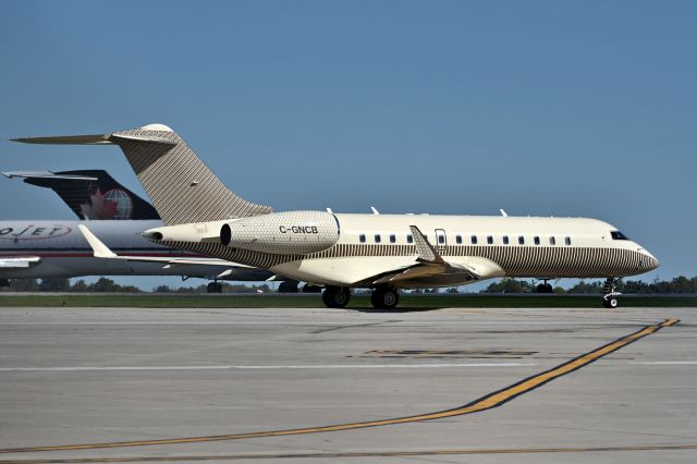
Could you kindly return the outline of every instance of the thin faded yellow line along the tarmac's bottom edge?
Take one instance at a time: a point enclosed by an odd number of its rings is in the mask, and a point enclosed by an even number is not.
[[[697,450],[694,443],[677,444],[629,444],[616,447],[567,447],[567,448],[484,448],[451,450],[409,450],[409,451],[335,451],[316,453],[256,453],[256,454],[208,454],[208,455],[167,455],[167,456],[103,456],[103,457],[54,457],[0,461],[0,464],[90,464],[90,463],[138,463],[138,462],[199,462],[199,461],[240,461],[240,460],[282,460],[282,459],[328,459],[328,457],[409,457],[444,456],[474,454],[547,454],[547,453],[598,453],[617,451],[689,451]]]

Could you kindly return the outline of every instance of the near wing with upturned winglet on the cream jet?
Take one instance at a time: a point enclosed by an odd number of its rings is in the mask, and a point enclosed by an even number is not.
[[[490,259],[478,256],[445,260],[416,225],[409,225],[417,258],[411,266],[386,270],[356,282],[360,285],[394,284],[396,286],[461,285],[504,276],[503,269]]]

